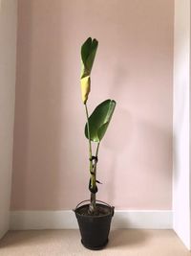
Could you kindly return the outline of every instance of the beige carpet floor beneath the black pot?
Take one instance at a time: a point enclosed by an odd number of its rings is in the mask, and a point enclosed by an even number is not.
[[[191,256],[172,230],[111,231],[101,251],[80,243],[78,230],[10,231],[0,242],[0,256]]]

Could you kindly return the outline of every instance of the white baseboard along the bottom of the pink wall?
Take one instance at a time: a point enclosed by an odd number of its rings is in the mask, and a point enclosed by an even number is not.
[[[116,210],[112,229],[143,228],[171,229],[172,211],[126,211]],[[11,230],[27,229],[76,229],[73,211],[11,211]]]

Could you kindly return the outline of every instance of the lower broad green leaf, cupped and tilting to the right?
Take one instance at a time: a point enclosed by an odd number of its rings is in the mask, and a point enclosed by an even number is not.
[[[113,100],[106,100],[100,105],[97,105],[92,115],[89,117],[90,139],[94,142],[100,142],[103,138],[112,115],[114,113],[116,102]],[[88,128],[85,126],[85,135],[88,139]]]

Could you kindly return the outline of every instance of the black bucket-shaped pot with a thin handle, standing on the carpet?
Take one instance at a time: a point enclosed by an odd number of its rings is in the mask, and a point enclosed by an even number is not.
[[[82,215],[80,214],[81,210],[87,208],[89,204],[80,205],[87,201],[89,200],[80,202],[74,209],[81,234],[81,243],[89,249],[102,249],[108,244],[110,225],[114,216],[114,207],[97,200],[98,203],[96,205],[105,208],[108,213],[102,216]]]

